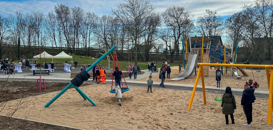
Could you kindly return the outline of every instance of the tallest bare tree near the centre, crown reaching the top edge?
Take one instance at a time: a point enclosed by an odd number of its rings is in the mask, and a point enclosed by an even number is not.
[[[133,47],[136,50],[135,65],[137,65],[137,52],[145,31],[145,21],[153,15],[154,10],[148,0],[125,0],[125,3],[120,3],[116,9],[112,9],[112,13],[119,18],[133,41]]]

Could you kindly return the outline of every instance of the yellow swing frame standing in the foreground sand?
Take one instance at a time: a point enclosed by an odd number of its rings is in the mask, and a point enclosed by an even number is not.
[[[205,82],[204,82],[204,72],[203,72],[203,66],[223,66],[223,67],[251,67],[251,68],[265,68],[266,70],[266,77],[267,77],[267,83],[269,88],[269,96],[268,96],[268,110],[267,110],[267,124],[271,124],[272,120],[272,104],[273,104],[273,72],[269,72],[269,68],[272,70],[273,65],[252,65],[252,64],[212,64],[212,63],[197,63],[199,67],[196,80],[194,83],[193,91],[191,94],[190,103],[188,106],[188,110],[191,110],[191,105],[193,102],[193,97],[196,91],[197,83],[201,74],[201,82],[202,82],[202,91],[203,91],[203,99],[204,104],[207,104],[206,100],[206,91],[205,91]]]

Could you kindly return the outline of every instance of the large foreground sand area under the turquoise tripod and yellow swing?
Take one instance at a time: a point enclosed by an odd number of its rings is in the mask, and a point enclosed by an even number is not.
[[[44,105],[57,93],[47,93],[34,97],[13,116],[72,126],[77,129],[272,129],[266,125],[267,99],[256,99],[253,103],[253,122],[251,127],[243,126],[246,118],[240,106],[241,97],[235,97],[237,109],[234,113],[235,124],[226,125],[222,114],[221,102],[213,100],[215,94],[207,93],[207,104],[203,103],[202,93],[196,92],[193,105],[187,111],[191,91],[177,91],[153,88],[131,87],[123,93],[122,107],[109,85],[89,85],[80,87],[97,104],[94,107],[83,100],[75,89],[69,89],[48,108]],[[30,98],[25,99],[24,103]],[[9,102],[5,114],[18,101]],[[2,109],[0,107],[0,109]],[[29,111],[30,110],[30,111]]]

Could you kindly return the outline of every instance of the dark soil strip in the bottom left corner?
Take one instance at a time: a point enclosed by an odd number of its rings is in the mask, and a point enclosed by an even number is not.
[[[45,124],[45,123],[39,123],[39,122],[34,122],[34,121],[28,121],[28,120],[23,120],[23,119],[17,119],[17,118],[9,118],[9,117],[4,117],[0,116],[0,122],[4,123],[4,127],[0,128],[1,129],[47,129],[47,130],[53,130],[53,129],[58,129],[58,130],[72,130],[71,128],[68,127],[62,127],[62,126],[54,126],[50,124]]]

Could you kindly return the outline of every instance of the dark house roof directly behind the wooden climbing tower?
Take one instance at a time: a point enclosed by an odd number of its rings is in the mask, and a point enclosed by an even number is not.
[[[210,41],[210,40],[211,40],[211,38],[205,38],[204,37],[204,42],[205,43],[207,43],[207,41]],[[212,45],[213,46],[217,46],[219,40],[220,40],[221,46],[223,46],[223,42],[222,42],[221,36],[213,36]],[[191,37],[191,44],[192,45],[193,45],[193,41],[195,41],[195,45],[196,46],[200,46],[200,44],[202,44],[202,36],[201,37]],[[187,39],[187,42],[189,44],[190,40]]]

